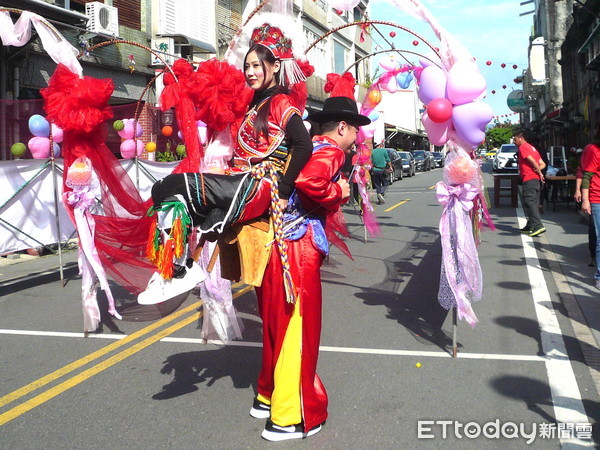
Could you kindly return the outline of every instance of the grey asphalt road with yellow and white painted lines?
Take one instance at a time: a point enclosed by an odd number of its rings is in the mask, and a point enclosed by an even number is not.
[[[442,209],[433,186],[441,177],[436,169],[394,183],[376,206],[383,234],[366,243],[360,217],[345,207],[354,259],[333,249],[322,269],[318,372],[330,417],[319,434],[285,448],[524,448],[530,441],[548,449],[561,446],[561,430],[565,448],[569,437],[593,446],[586,426],[576,433],[567,422],[594,423],[600,442],[598,369],[589,362],[598,348],[581,338],[587,331],[594,339],[598,328],[577,331],[585,321],[569,318],[556,270],[568,250],[556,256],[548,238],[515,232],[519,209],[492,210],[498,230],[484,232],[479,247],[479,323],[458,323],[459,353],[450,356],[452,317],[437,303]],[[548,234],[553,217],[546,216]],[[583,245],[584,225],[569,226],[576,241],[561,234],[555,246]],[[251,290],[235,288],[242,342],[200,343],[193,295],[177,316],[106,321],[102,334],[84,338],[75,259],[65,255],[65,287],[52,270],[55,257],[0,267],[3,448],[274,446],[260,437],[264,422],[248,415],[261,333]],[[569,292],[579,291],[594,295],[585,287]]]

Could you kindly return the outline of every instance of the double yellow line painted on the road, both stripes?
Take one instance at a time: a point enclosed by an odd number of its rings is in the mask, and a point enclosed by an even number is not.
[[[238,290],[237,292],[235,292],[233,294],[233,297],[237,298],[237,297],[245,294],[246,292],[248,292],[251,289],[253,289],[252,286],[246,286],[246,287]],[[190,311],[197,310],[201,305],[202,305],[201,301],[195,302],[179,311],[174,312],[173,314],[170,314],[169,316],[167,316],[157,322],[154,322],[153,324],[151,324],[147,327],[142,328],[139,331],[136,331],[135,333],[132,333],[132,334],[126,336],[125,338],[123,338],[117,342],[113,342],[112,344],[109,344],[109,345],[101,348],[100,350],[90,353],[89,355],[86,355],[83,358],[78,359],[77,361],[67,364],[66,366],[64,366],[42,378],[39,378],[38,380],[35,380],[34,382],[29,383],[28,385],[23,386],[22,388],[19,388],[16,391],[13,391],[10,394],[5,395],[4,397],[0,397],[0,407],[4,407],[5,405],[8,405],[9,403],[11,403],[13,401],[18,400],[19,398],[51,383],[52,381],[57,380],[58,378],[61,378],[65,375],[79,369],[80,367],[83,367],[84,365],[86,365],[96,359],[99,359],[102,356],[104,356],[120,347],[123,347],[124,345],[129,344],[148,333],[151,333],[152,331],[162,327],[163,325],[166,325],[169,322],[172,322],[172,321],[180,318],[181,316],[186,315]],[[202,312],[195,312],[191,316],[183,318],[181,321],[177,322],[176,324],[171,325],[170,327],[159,331],[158,333],[150,336],[149,338],[146,338],[143,341],[138,342],[137,344],[134,344],[131,347],[124,349],[120,353],[117,353],[116,355],[111,356],[110,358],[96,364],[95,366],[90,367],[89,369],[84,370],[83,372],[80,372],[79,374],[69,378],[68,380],[63,381],[62,383],[48,389],[47,391],[36,395],[35,397],[31,398],[30,400],[27,400],[26,402],[21,403],[20,405],[6,411],[5,413],[0,414],[0,426],[4,425],[7,422],[10,422],[11,420],[19,417],[22,414],[25,414],[28,411],[31,411],[33,408],[41,405],[42,403],[47,402],[48,400],[53,399],[54,397],[65,392],[66,390],[71,389],[74,386],[77,386],[79,383],[82,383],[83,381],[93,377],[94,375],[102,372],[103,370],[106,370],[109,367],[114,366],[118,362],[123,361],[125,358],[128,358],[129,356],[139,352],[140,350],[145,349],[146,347],[154,344],[155,342],[160,341],[164,337],[167,337],[170,334],[173,334],[177,330],[180,330],[181,328],[197,321],[201,316],[202,316]]]

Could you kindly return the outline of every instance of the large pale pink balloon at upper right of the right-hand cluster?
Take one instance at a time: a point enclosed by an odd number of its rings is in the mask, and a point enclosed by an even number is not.
[[[464,105],[476,100],[485,92],[485,78],[474,61],[462,59],[454,63],[448,72],[446,92],[454,105]]]

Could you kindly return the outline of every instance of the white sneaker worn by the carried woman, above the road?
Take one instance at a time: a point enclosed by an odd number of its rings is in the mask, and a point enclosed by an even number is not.
[[[156,305],[165,302],[179,294],[191,291],[198,283],[206,279],[206,274],[196,263],[192,268],[186,267],[186,273],[182,278],[171,278],[165,280],[158,272],[155,272],[148,281],[146,290],[138,295],[140,305]]]

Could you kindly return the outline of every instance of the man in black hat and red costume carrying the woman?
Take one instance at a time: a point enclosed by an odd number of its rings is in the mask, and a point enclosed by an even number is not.
[[[296,289],[286,302],[281,256],[273,248],[262,286],[256,288],[263,321],[262,369],[250,414],[268,418],[262,437],[304,438],[327,419],[327,393],[316,374],[321,336],[320,267],[328,253],[325,227],[349,196],[341,178],[358,127],[370,123],[348,97],[330,97],[309,120],[320,125],[314,151],[296,179],[284,216],[287,256]]]

